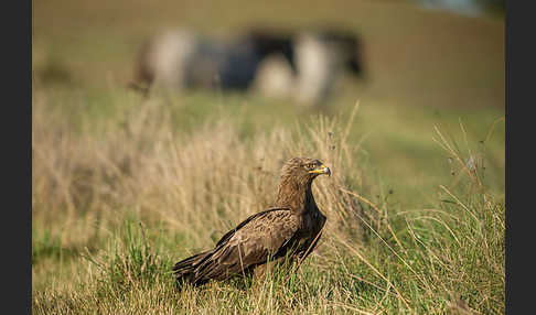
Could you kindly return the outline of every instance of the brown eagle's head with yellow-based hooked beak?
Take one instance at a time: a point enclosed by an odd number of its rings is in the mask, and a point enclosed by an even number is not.
[[[318,175],[331,175],[331,171],[321,161],[309,158],[292,158],[282,169],[282,177],[291,176],[302,183],[311,183]]]

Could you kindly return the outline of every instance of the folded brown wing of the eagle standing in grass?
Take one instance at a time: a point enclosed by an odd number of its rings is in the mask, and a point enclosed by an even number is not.
[[[290,209],[272,208],[250,216],[224,235],[214,250],[199,257],[193,282],[222,280],[285,256],[298,237],[298,218]]]

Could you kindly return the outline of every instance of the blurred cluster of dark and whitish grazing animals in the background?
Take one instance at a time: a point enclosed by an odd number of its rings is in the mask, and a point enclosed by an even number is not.
[[[336,30],[251,30],[228,41],[168,31],[142,45],[131,87],[255,90],[315,105],[342,74],[362,75],[360,50],[355,35]]]

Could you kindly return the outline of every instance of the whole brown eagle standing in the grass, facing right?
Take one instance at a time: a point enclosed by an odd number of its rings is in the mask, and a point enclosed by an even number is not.
[[[199,285],[211,279],[258,274],[267,262],[305,259],[317,246],[325,222],[311,191],[320,174],[331,175],[331,171],[319,160],[289,160],[282,167],[275,206],[248,217],[225,233],[214,249],[175,263],[178,283]]]

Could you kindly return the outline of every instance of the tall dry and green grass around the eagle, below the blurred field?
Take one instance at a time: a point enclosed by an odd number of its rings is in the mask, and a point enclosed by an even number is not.
[[[436,207],[399,208],[388,192],[366,195],[360,146],[349,140],[357,110],[345,123],[318,116],[244,138],[226,117],[180,132],[170,105],[154,100],[98,121],[35,101],[33,311],[503,313],[505,206],[480,181],[485,155],[469,159],[438,128],[439,145],[465,171],[439,188]],[[299,272],[178,291],[173,262],[270,206],[296,155],[333,172],[313,184],[328,224]],[[65,271],[67,261],[75,267]],[[52,285],[45,278],[61,265]]]

